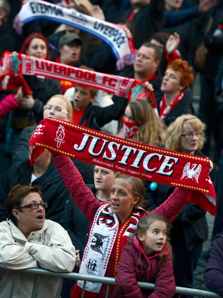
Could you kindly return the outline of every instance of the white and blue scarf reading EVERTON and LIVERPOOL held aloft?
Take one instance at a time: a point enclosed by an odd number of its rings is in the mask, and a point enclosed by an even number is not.
[[[45,1],[27,1],[16,15],[13,27],[21,34],[22,27],[29,22],[44,19],[76,27],[92,34],[108,44],[117,60],[117,70],[133,65],[136,51],[131,38],[126,37],[125,28],[93,18],[83,13]]]

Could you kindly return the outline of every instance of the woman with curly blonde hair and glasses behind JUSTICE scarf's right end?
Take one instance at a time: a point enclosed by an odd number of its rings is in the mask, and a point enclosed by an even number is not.
[[[197,117],[187,114],[178,117],[167,128],[165,148],[194,155],[190,170],[199,167],[197,156],[205,156],[201,150],[205,142],[205,124]],[[209,173],[210,180],[216,188],[216,167]],[[162,204],[174,191],[174,187],[158,184],[151,209]],[[208,239],[208,225],[205,211],[198,205],[188,202],[172,222],[171,244],[175,254],[174,276],[176,286],[193,288],[193,272],[202,252],[202,243]]]

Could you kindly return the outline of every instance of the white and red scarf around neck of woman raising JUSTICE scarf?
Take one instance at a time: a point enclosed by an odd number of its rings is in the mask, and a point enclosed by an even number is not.
[[[113,277],[115,277],[117,262],[120,259],[127,238],[135,232],[139,219],[145,215],[146,212],[142,208],[134,209],[131,217],[127,218],[121,227],[119,227],[119,220],[112,213],[111,205],[101,206],[96,212],[89,233],[79,273],[105,276],[108,260],[114,248]],[[83,283],[84,281],[80,280],[77,284],[83,288]],[[86,283],[86,290],[89,292],[99,293],[100,288],[100,283]]]

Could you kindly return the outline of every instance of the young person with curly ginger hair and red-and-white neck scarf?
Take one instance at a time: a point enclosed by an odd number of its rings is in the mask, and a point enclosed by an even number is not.
[[[193,81],[193,68],[187,61],[175,59],[168,65],[160,88],[164,97],[157,102],[159,116],[166,125],[183,114],[194,114],[189,88]]]

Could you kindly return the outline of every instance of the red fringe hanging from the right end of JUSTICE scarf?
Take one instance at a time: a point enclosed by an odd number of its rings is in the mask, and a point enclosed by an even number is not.
[[[208,211],[211,215],[216,217],[216,206],[211,203],[204,194],[191,190],[187,196],[187,201],[197,204],[204,211]]]

